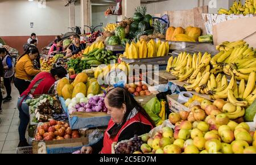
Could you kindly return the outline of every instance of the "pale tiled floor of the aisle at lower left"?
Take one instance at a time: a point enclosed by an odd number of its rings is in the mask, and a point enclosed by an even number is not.
[[[3,112],[0,114],[2,120],[0,123],[1,154],[15,154],[16,147],[19,143],[19,111],[16,109],[19,92],[14,85],[12,86],[11,96],[13,97],[13,100],[9,103],[2,104]]]

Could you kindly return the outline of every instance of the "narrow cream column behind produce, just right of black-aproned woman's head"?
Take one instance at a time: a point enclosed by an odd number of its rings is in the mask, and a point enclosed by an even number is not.
[[[89,32],[88,28],[84,26],[91,26],[91,13],[92,13],[90,0],[81,0],[81,32]]]

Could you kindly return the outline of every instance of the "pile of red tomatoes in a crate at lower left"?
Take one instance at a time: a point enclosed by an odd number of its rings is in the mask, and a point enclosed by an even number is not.
[[[38,126],[38,132],[35,134],[36,141],[52,141],[69,138],[79,138],[78,130],[71,130],[69,124],[64,121],[50,120]]]

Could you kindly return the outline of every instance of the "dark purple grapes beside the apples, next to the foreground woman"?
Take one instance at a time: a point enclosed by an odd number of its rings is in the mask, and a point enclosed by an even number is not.
[[[142,144],[143,141],[141,137],[135,135],[131,141],[119,143],[115,149],[115,154],[133,154],[135,151],[141,151]]]

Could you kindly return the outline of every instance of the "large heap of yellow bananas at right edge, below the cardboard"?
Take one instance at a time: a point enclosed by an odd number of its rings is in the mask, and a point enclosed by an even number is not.
[[[256,50],[245,41],[228,41],[217,46],[220,53],[216,54],[210,64],[214,70],[223,70],[227,75],[235,75],[236,79],[249,79],[249,74],[256,71]]]

